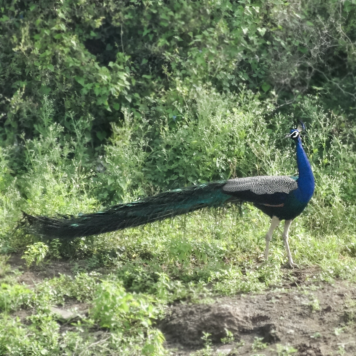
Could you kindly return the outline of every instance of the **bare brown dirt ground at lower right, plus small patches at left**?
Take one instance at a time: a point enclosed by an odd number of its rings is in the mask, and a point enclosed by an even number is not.
[[[9,262],[12,268],[25,270],[18,256]],[[71,274],[71,267],[67,262],[53,262],[42,271],[25,270],[19,279],[31,287],[45,277]],[[174,356],[208,354],[201,350],[203,332],[210,334],[209,354],[216,356],[356,355],[356,285],[313,283],[313,274],[313,267],[294,269],[293,283],[271,286],[261,294],[216,298],[208,304],[173,304],[157,327]],[[62,318],[73,317],[73,305],[68,310],[53,307]],[[232,334],[222,343],[226,330]],[[292,347],[297,351],[292,352]]]

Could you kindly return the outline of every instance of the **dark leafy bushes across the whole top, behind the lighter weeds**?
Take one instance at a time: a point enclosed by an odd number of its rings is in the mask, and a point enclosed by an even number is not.
[[[23,131],[32,138],[43,95],[71,135],[73,118],[92,115],[96,145],[122,108],[159,123],[205,85],[226,93],[247,85],[279,103],[320,92],[325,108],[349,110],[355,10],[340,0],[6,2],[2,142]]]

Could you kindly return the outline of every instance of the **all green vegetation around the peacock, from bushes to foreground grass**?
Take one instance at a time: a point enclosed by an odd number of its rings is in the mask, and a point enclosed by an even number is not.
[[[257,268],[269,219],[250,205],[242,217],[228,206],[72,242],[15,229],[21,210],[75,215],[294,174],[284,136],[298,120],[316,190],[292,225],[292,253],[320,267],[316,279],[355,281],[355,0],[5,0],[0,10],[0,354],[161,355],[151,320],[165,304],[281,284],[279,236]],[[9,271],[13,252],[30,268],[72,261],[73,276],[28,289]],[[68,299],[92,309],[63,331],[51,305]],[[108,330],[100,344],[95,327]]]

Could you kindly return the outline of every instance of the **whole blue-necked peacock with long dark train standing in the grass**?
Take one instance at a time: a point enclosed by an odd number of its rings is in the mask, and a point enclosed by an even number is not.
[[[170,190],[77,217],[61,215],[58,218],[49,218],[23,213],[25,224],[32,234],[51,239],[73,239],[152,223],[205,207],[218,207],[227,202],[248,201],[272,219],[266,234],[265,259],[268,257],[274,229],[281,220],[285,220],[283,240],[288,263],[291,268],[297,267],[289,250],[288,231],[293,219],[307,206],[315,187],[312,168],[300,137],[303,130],[305,125],[301,122],[297,129],[290,130],[286,135],[295,142],[299,171],[297,177],[256,176],[220,180]]]

